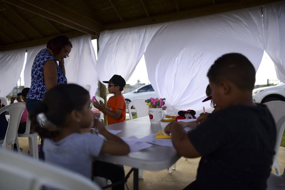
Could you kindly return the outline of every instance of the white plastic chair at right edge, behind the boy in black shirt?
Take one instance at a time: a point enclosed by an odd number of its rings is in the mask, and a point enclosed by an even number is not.
[[[271,101],[264,103],[267,108],[269,109],[270,113],[273,116],[273,119],[276,123],[276,145],[275,145],[275,152],[273,159],[273,166],[275,168],[275,172],[280,175],[279,163],[278,163],[278,151],[282,139],[282,135],[284,132],[285,127],[285,102],[283,101]]]

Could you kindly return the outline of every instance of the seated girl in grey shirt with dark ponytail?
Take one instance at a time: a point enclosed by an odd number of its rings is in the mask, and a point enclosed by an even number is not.
[[[35,129],[45,138],[45,161],[91,178],[92,159],[100,152],[114,155],[128,154],[129,146],[119,137],[108,132],[99,119],[93,119],[90,111],[90,96],[87,90],[77,84],[63,84],[49,90],[33,113],[31,121],[36,123]],[[45,119],[46,118],[46,119]],[[46,124],[55,128],[42,128]],[[103,138],[91,134],[88,128],[96,127]],[[81,132],[84,131],[85,133]],[[121,166],[94,162],[94,176],[110,179],[113,183],[124,178]],[[113,186],[124,189],[124,183]]]

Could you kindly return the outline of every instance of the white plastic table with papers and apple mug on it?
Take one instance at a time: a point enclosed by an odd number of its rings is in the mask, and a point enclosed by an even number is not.
[[[148,116],[129,120],[126,122],[107,125],[108,130],[122,130],[117,134],[119,137],[136,136],[142,138],[156,133],[159,129],[164,129],[169,122],[161,124],[151,124]],[[144,170],[163,170],[170,167],[181,156],[174,147],[153,145],[148,149],[130,152],[124,156],[113,156],[109,154],[100,154],[95,158],[103,162],[116,163],[132,167],[134,171],[134,190],[138,189],[138,169]]]

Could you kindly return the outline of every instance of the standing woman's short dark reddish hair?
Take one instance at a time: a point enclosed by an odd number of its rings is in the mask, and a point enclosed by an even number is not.
[[[68,37],[63,35],[56,36],[55,38],[47,42],[47,48],[49,48],[53,52],[54,57],[56,57],[60,53],[61,49],[66,45],[72,47],[72,44],[69,41]]]

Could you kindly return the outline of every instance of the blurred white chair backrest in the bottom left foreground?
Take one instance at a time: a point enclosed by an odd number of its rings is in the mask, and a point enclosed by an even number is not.
[[[73,171],[4,149],[0,151],[0,189],[39,190],[43,185],[62,190],[101,189]]]

